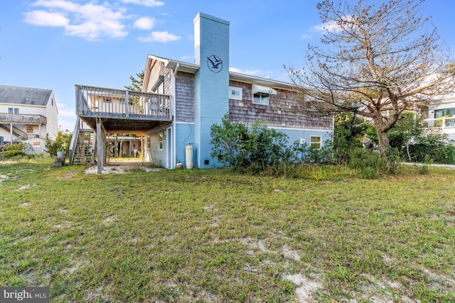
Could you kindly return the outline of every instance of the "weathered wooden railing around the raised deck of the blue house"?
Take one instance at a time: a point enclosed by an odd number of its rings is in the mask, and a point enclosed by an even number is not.
[[[76,85],[76,112],[81,116],[109,116],[171,120],[171,97]]]

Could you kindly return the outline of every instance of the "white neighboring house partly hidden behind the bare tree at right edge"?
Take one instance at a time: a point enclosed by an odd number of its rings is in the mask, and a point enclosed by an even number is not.
[[[455,95],[449,95],[420,110],[424,128],[438,129],[455,140]]]

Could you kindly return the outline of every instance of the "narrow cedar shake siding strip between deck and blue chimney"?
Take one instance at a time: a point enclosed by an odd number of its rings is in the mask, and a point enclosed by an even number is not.
[[[177,72],[176,122],[194,123],[194,75]]]

